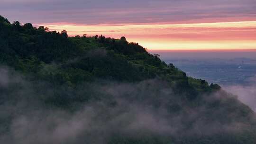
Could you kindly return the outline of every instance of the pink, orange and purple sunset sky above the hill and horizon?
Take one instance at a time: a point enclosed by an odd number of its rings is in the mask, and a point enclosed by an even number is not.
[[[149,50],[256,49],[256,0],[0,0],[9,21]]]

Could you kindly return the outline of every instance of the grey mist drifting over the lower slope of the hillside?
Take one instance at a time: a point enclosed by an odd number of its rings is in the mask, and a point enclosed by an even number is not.
[[[185,96],[175,94],[166,81],[157,78],[137,83],[98,80],[71,89],[28,81],[7,67],[0,72],[0,141],[5,144],[106,144],[119,137],[145,137],[150,142],[155,136],[168,142],[236,133],[246,127],[239,120],[228,123],[209,118],[224,117],[225,108],[209,113],[206,105],[189,106]],[[47,103],[51,97],[73,99],[78,94],[94,99],[69,104],[69,108]],[[224,91],[202,97],[201,103],[220,105],[235,99]]]

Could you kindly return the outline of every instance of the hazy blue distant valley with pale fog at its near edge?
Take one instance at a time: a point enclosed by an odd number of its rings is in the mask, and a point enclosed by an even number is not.
[[[162,59],[165,63],[173,63],[188,76],[221,85],[256,111],[256,59],[246,57],[207,59],[192,55],[186,55],[187,58],[171,56],[168,58],[167,54],[164,54]]]

